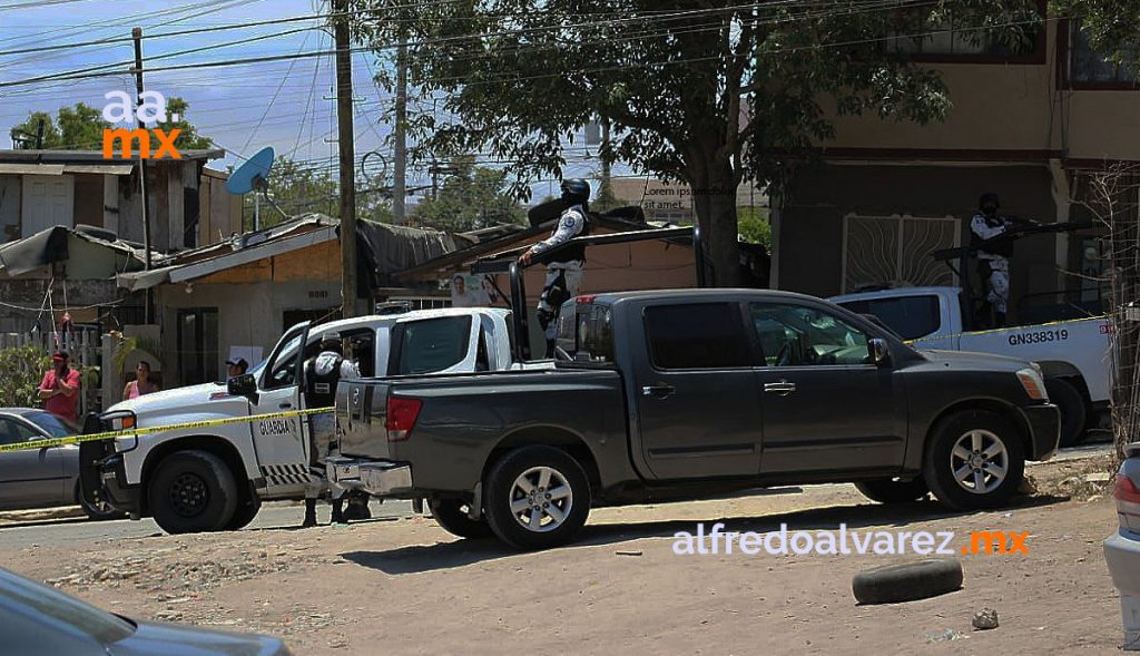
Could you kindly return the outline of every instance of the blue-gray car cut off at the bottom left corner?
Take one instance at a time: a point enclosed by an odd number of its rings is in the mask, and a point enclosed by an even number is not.
[[[136,622],[0,568],[0,637],[21,656],[290,656],[276,638]]]

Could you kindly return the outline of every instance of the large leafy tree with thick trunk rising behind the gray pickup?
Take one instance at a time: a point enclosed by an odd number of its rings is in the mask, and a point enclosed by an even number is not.
[[[886,47],[891,31],[929,33],[953,11],[980,29],[967,38],[1012,44],[1041,18],[1033,0],[901,5],[357,0],[356,17],[365,42],[407,39],[410,84],[441,98],[439,112],[409,120],[422,146],[489,153],[526,197],[561,173],[564,144],[587,122],[608,120],[603,156],[693,189],[712,282],[725,285],[738,272],[742,180],[779,193],[790,163],[833,136],[832,114],[945,116],[946,87]]]

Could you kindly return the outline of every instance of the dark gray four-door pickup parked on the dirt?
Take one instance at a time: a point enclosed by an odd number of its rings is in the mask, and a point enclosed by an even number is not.
[[[1057,450],[1041,372],[920,354],[826,301],[758,290],[583,295],[549,371],[342,381],[340,484],[426,500],[447,531],[571,541],[591,507],[852,481],[999,505]]]

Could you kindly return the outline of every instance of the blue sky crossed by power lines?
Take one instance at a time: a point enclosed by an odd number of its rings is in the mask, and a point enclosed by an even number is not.
[[[0,52],[101,39],[129,39],[131,29],[144,30],[144,55],[162,57],[189,49],[204,51],[155,60],[150,65],[184,65],[229,58],[293,55],[332,50],[327,30],[311,29],[323,22],[284,23],[242,30],[245,25],[275,18],[327,13],[327,0],[0,0]],[[217,31],[179,37],[154,37],[165,32],[215,27]],[[310,27],[306,30],[306,27]],[[290,32],[283,34],[283,32]],[[236,42],[236,43],[235,43]],[[0,55],[0,84],[28,78],[64,73],[103,64],[122,64],[133,58],[131,42],[101,43],[35,54]],[[373,81],[383,65],[376,55],[353,55],[356,151],[359,157],[377,151],[391,161],[389,133],[382,116],[391,106],[391,95]],[[212,168],[225,169],[242,162],[264,146],[311,167],[327,168],[335,177],[336,144],[332,57],[258,63],[242,66],[185,71],[157,71],[146,76],[148,90],[166,97],[179,96],[189,104],[186,119],[199,133],[227,151]],[[104,95],[123,90],[133,95],[130,74],[74,81],[48,81],[0,86],[0,148],[10,148],[9,129],[30,112],[55,113],[75,103],[101,108]],[[369,171],[381,157],[369,157]],[[589,167],[592,168],[592,167]],[[586,175],[575,167],[568,175]],[[376,171],[378,172],[378,171]],[[424,183],[409,173],[409,186]],[[538,197],[549,185],[538,185]],[[554,187],[556,188],[556,187]]]

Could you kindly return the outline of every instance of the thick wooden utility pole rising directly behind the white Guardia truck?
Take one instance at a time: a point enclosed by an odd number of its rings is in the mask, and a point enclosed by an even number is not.
[[[341,317],[356,316],[356,143],[349,0],[333,0],[336,41],[336,132],[341,168]]]

